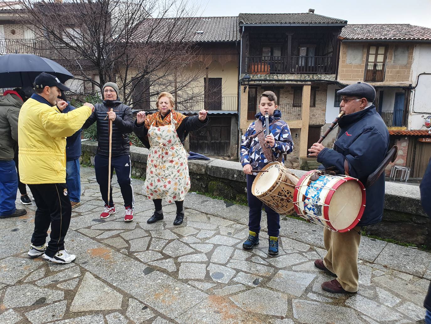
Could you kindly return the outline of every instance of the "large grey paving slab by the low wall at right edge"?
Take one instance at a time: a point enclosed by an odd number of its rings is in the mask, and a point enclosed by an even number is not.
[[[423,276],[430,261],[431,254],[425,251],[393,243],[388,243],[375,260],[378,264],[415,276]]]

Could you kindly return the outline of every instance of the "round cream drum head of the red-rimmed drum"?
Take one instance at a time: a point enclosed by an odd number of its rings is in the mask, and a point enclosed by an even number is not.
[[[362,188],[357,181],[341,184],[329,204],[329,221],[334,229],[347,229],[358,217],[362,206]]]

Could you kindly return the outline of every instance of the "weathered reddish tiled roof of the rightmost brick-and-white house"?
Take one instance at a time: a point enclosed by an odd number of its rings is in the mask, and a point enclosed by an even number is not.
[[[410,24],[352,24],[343,27],[346,40],[431,41],[431,28]]]

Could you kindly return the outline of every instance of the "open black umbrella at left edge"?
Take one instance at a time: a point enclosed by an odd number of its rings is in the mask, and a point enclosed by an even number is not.
[[[32,86],[42,72],[56,76],[61,83],[73,75],[60,64],[34,54],[0,55],[0,88]]]

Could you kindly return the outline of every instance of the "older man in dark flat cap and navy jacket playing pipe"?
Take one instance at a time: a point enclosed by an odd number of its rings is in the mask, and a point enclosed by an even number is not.
[[[331,168],[341,175],[350,175],[364,185],[368,176],[383,161],[389,132],[373,102],[376,92],[367,83],[355,83],[337,91],[340,108],[345,115],[338,122],[339,132],[333,149],[314,143],[310,156],[316,156],[321,168]],[[361,227],[381,221],[384,204],[384,174],[374,184],[365,187],[366,206],[358,225],[350,232],[323,231],[325,248],[323,260],[315,260],[317,268],[337,279],[322,283],[322,289],[334,293],[358,291],[358,249]]]

